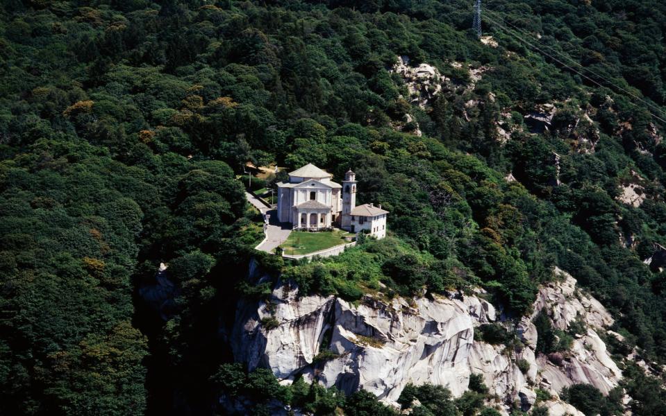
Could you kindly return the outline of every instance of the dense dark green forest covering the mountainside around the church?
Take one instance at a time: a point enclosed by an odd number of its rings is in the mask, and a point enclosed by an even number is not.
[[[558,266],[615,316],[614,353],[666,363],[666,3],[489,0],[495,46],[462,0],[0,7],[0,414],[224,414],[225,395],[394,414],[231,363],[235,301],[269,291],[251,259],[349,300],[482,286],[508,319]],[[410,101],[399,56],[442,90]],[[391,236],[308,264],[256,252],[247,162],[353,167]],[[140,293],[160,263],[158,310]],[[634,413],[663,415],[658,381],[625,370]],[[493,415],[477,384],[403,403]],[[595,394],[567,397],[617,413]]]

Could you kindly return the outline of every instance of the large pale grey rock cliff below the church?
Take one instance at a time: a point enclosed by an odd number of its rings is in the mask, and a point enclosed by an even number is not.
[[[591,383],[608,393],[622,373],[595,329],[613,319],[593,297],[577,293],[573,277],[559,269],[556,273],[562,281],[540,289],[534,315],[543,310],[553,327],[563,330],[576,319],[588,325],[558,364],[536,356],[533,317],[516,325],[524,343],[520,349],[474,341],[475,327],[498,319],[492,304],[475,295],[390,302],[366,297],[355,306],[336,297],[299,299],[297,288],[284,283],[274,289],[270,308],[263,302],[239,304],[233,354],[250,370],[270,368],[285,383],[302,375],[345,392],[363,388],[389,404],[407,383],[444,385],[459,396],[472,373],[483,374],[501,404],[519,401],[523,410],[534,404],[535,387],[555,398],[573,383]],[[262,318],[271,318],[274,328],[260,324]],[[333,358],[328,353],[326,359],[315,359],[326,349]],[[516,364],[519,360],[529,365],[525,373]],[[546,404],[551,415],[578,414],[558,399]]]

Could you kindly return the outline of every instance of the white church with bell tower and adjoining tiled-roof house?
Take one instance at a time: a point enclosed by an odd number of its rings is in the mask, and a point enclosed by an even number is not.
[[[342,184],[333,175],[313,164],[289,173],[288,182],[279,182],[277,216],[294,229],[318,231],[339,226],[349,232],[367,230],[371,236],[386,236],[388,211],[381,205],[356,206],[356,174],[345,173]]]

